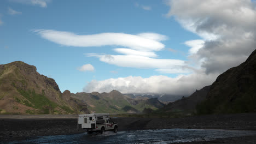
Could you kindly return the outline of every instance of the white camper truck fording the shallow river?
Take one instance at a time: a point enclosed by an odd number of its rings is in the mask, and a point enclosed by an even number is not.
[[[78,129],[86,130],[87,133],[94,131],[101,134],[105,130],[118,131],[118,124],[114,123],[108,113],[92,113],[78,116]]]

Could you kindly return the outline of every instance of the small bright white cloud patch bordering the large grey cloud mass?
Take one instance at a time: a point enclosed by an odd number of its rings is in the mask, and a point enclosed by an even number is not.
[[[191,47],[189,49],[190,55],[197,53],[203,47],[203,44],[205,44],[205,41],[201,39],[185,41],[185,45]]]

